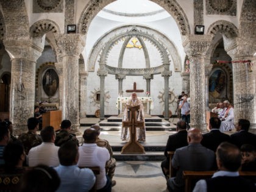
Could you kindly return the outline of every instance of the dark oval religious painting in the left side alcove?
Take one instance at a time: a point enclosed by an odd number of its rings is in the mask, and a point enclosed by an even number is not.
[[[47,69],[43,74],[43,90],[49,97],[54,96],[59,88],[59,77],[54,69]]]

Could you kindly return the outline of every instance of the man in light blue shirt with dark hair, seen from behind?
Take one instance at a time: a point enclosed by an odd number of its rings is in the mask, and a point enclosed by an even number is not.
[[[89,191],[95,183],[95,176],[91,169],[77,167],[79,153],[76,143],[67,141],[60,147],[58,155],[60,165],[55,170],[61,182],[57,192]]]

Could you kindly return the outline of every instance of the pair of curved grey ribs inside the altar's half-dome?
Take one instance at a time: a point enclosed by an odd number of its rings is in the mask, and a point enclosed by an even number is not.
[[[131,37],[132,38],[132,37]],[[126,45],[127,43],[131,40],[131,38],[127,38],[124,43],[123,46],[121,48],[120,54],[119,54],[119,59],[118,59],[118,68],[123,68],[123,59],[124,59],[124,52],[126,50]],[[140,41],[140,44],[142,46],[143,52],[144,52],[144,57],[146,60],[146,68],[150,68],[150,61],[149,61],[149,53],[148,53],[148,49],[146,48],[146,45],[144,43],[144,41],[142,40],[141,37],[138,37],[138,41]]]

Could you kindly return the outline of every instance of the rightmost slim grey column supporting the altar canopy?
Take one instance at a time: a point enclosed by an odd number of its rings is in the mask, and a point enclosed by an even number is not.
[[[161,76],[165,78],[165,115],[164,118],[169,120],[169,77],[171,76],[171,71],[165,70],[161,73]]]

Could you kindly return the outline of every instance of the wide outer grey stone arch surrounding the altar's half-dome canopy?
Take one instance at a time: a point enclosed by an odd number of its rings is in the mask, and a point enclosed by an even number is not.
[[[176,46],[169,40],[168,37],[166,37],[166,35],[162,34],[161,32],[158,32],[158,30],[152,29],[151,27],[147,27],[147,26],[136,25],[136,28],[141,32],[151,35],[158,42],[163,44],[163,46],[165,47],[164,51],[165,52],[166,50],[168,51],[166,55],[168,55],[168,58],[169,56],[172,58],[175,71],[176,72],[182,71],[182,61],[180,59],[181,57],[179,55],[179,52],[177,51]],[[96,43],[93,46],[93,49],[91,49],[90,51],[90,54],[87,60],[87,71],[94,71],[94,65],[99,59],[98,56],[102,55],[102,48],[104,48],[105,44],[107,44],[110,39],[112,39],[113,37],[116,37],[116,35],[118,34],[127,34],[132,29],[134,29],[134,26],[124,25],[124,26],[116,27],[115,29],[110,30],[106,32],[104,35],[102,35],[102,37],[100,37],[96,41]]]

